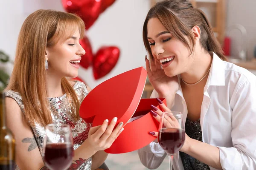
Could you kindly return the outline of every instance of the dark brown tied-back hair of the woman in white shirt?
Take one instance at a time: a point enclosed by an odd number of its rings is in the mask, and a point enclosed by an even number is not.
[[[191,29],[199,26],[201,30],[200,43],[205,51],[213,51],[218,57],[226,60],[218,40],[213,34],[212,27],[209,24],[204,12],[192,6],[186,0],[163,0],[153,6],[147,14],[143,25],[143,41],[151,59],[151,48],[148,43],[148,20],[157,18],[165,28],[178,40],[183,42],[192,52],[194,51],[195,41]],[[192,48],[185,36],[189,37],[192,42]]]

